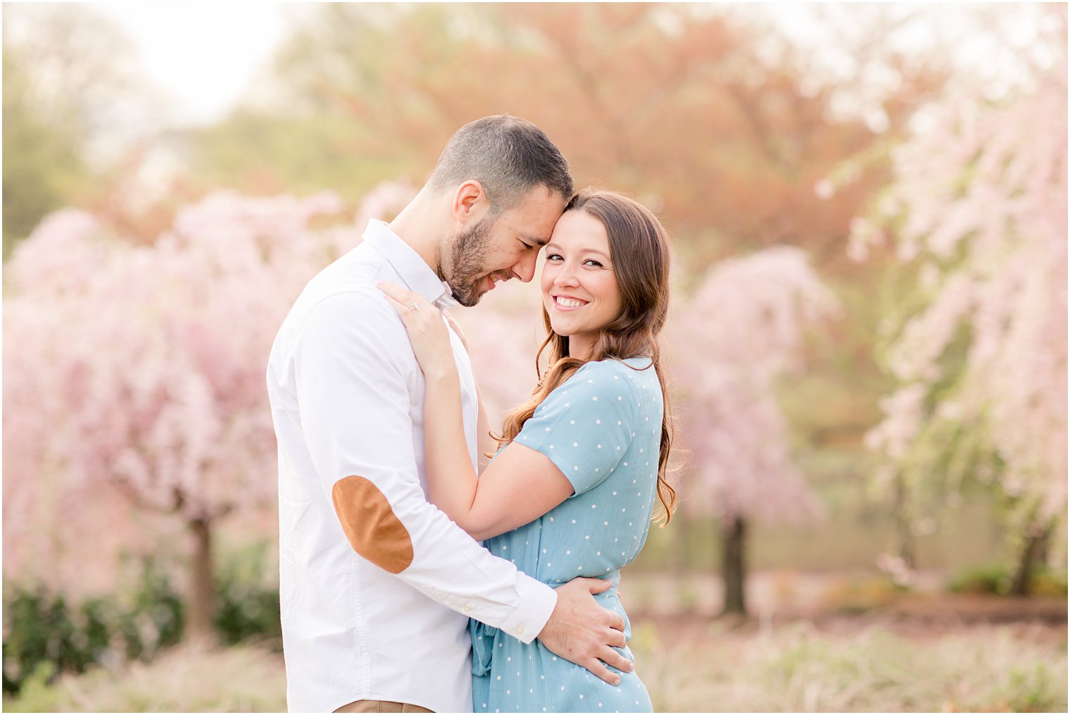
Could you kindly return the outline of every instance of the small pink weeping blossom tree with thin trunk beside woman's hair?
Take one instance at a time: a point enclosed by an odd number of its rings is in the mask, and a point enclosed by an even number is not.
[[[777,384],[802,368],[807,328],[838,305],[800,249],[777,247],[715,264],[670,318],[677,427],[691,462],[682,506],[720,523],[727,612],[746,613],[748,524],[824,514],[792,459]]]

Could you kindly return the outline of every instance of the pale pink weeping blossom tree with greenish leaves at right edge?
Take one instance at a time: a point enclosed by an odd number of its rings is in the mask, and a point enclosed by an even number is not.
[[[1054,13],[1061,43],[1031,90],[934,109],[852,245],[865,258],[893,237],[915,283],[887,311],[881,356],[898,386],[868,436],[880,482],[914,526],[933,522],[927,493],[954,504],[966,477],[998,485],[1015,593],[1067,503],[1066,7]],[[912,566],[908,549],[895,556],[893,571]]]

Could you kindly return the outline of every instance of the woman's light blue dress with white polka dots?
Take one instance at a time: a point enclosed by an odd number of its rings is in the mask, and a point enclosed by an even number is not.
[[[577,576],[610,578],[595,596],[631,625],[616,595],[620,569],[646,541],[654,508],[662,400],[648,358],[583,365],[550,393],[516,442],[549,457],[576,493],[542,517],[487,542],[491,553],[552,587]],[[632,368],[647,369],[632,369]],[[609,685],[535,640],[472,621],[477,713],[652,712],[638,674]],[[628,648],[618,649],[635,661]]]

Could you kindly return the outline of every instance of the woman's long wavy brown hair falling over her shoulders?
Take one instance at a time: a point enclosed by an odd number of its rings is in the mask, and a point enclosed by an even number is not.
[[[648,209],[615,192],[584,189],[572,197],[565,211],[583,211],[606,227],[610,260],[621,290],[621,315],[599,334],[588,360],[648,356],[661,385],[664,416],[661,421],[658,456],[658,499],[663,506],[661,526],[664,526],[669,523],[676,506],[676,491],[667,478],[669,452],[672,450],[675,429],[657,339],[669,313],[669,238],[661,223]],[[506,415],[502,436],[494,436],[500,444],[516,439],[547,395],[587,362],[568,355],[568,337],[553,332],[545,305],[542,323],[546,325],[547,336],[535,355],[538,383],[528,401]],[[539,359],[547,348],[550,349],[548,368],[545,374],[540,374]]]

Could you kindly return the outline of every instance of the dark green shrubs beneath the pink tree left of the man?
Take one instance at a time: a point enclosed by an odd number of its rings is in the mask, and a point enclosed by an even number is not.
[[[266,544],[227,559],[216,577],[218,640],[281,648],[278,588],[265,584]],[[148,661],[180,642],[182,595],[153,560],[139,567],[132,593],[73,603],[36,585],[4,590],[3,691],[43,687],[58,674],[93,665]]]

